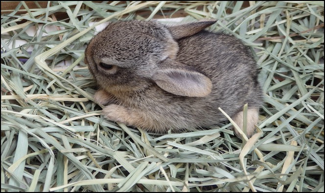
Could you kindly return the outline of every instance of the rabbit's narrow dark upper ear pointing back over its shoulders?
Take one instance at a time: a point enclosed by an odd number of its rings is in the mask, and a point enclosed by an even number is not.
[[[213,23],[215,23],[216,20],[211,21],[198,21],[198,22],[191,22],[181,25],[169,25],[166,26],[169,32],[171,33],[172,37],[176,40],[185,38],[188,36],[192,36],[199,31],[205,29],[206,27],[209,27]]]

